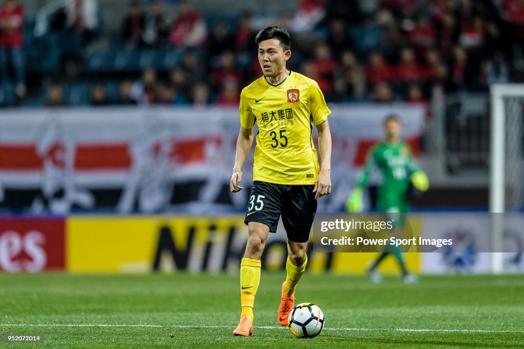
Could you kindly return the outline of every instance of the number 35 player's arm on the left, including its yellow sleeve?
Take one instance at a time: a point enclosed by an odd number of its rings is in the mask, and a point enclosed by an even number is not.
[[[236,141],[235,166],[233,166],[233,176],[231,176],[230,189],[232,193],[238,193],[244,187],[239,186],[242,181],[242,165],[246,161],[247,155],[253,144],[253,126],[255,125],[255,115],[249,106],[247,91],[245,87],[240,94],[240,132]]]

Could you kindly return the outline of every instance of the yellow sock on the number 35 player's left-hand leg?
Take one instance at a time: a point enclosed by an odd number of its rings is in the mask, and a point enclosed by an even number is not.
[[[253,321],[253,305],[260,283],[260,260],[242,258],[240,263],[240,300],[242,303],[242,314]]]

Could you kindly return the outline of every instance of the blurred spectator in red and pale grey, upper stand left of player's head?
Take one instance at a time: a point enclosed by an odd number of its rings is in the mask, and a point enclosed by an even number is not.
[[[204,18],[195,10],[189,0],[181,0],[179,15],[171,25],[169,41],[177,47],[203,48],[207,36]]]

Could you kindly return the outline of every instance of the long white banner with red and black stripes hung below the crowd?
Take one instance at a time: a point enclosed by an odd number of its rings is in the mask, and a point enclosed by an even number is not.
[[[401,118],[414,148],[424,116],[422,107],[403,104],[330,108],[333,194],[319,200],[319,210],[343,207],[367,150],[383,138],[387,115]],[[242,210],[248,193],[228,193],[238,130],[236,109],[3,110],[0,208],[62,214]],[[250,155],[244,185],[252,166]]]

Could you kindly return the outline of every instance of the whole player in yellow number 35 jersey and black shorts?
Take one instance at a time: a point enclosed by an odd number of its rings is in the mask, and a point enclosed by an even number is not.
[[[305,247],[316,212],[316,199],[331,193],[331,133],[319,85],[286,69],[291,57],[287,30],[272,26],[256,36],[263,76],[242,90],[240,132],[231,177],[233,193],[244,189],[242,165],[258,124],[253,188],[245,223],[248,239],[240,267],[242,313],[235,335],[253,332],[253,305],[260,282],[260,257],[269,232],[276,232],[280,216],[288,237],[287,277],[282,284],[279,324],[288,324],[294,291],[308,263]],[[319,167],[311,132],[319,135]]]

